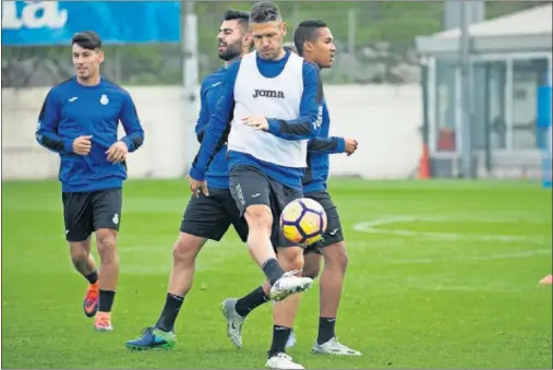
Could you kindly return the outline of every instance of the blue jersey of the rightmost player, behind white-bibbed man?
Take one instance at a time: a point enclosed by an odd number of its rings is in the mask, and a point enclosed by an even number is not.
[[[346,141],[344,138],[330,138],[330,117],[326,102],[323,105],[323,123],[317,138],[309,141],[308,144],[308,169],[303,177],[303,192],[312,193],[326,190],[328,179],[329,154],[344,153]]]

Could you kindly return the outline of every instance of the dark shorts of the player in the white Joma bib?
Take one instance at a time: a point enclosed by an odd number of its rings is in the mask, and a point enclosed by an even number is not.
[[[299,247],[285,238],[280,229],[280,213],[288,203],[303,196],[301,190],[288,188],[253,166],[238,165],[230,169],[230,192],[242,215],[250,205],[263,204],[271,207],[271,242],[274,248]]]

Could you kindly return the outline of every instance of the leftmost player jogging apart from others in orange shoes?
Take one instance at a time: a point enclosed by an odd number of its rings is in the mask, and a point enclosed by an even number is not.
[[[119,278],[117,234],[121,225],[127,155],[144,142],[131,95],[100,75],[101,40],[92,31],[72,40],[76,74],[52,87],[40,109],[37,142],[59,153],[65,238],[75,270],[89,283],[84,313],[96,331],[111,331]],[[117,139],[119,121],[127,135]],[[91,256],[96,232],[99,273]],[[99,276],[99,277],[98,277]]]

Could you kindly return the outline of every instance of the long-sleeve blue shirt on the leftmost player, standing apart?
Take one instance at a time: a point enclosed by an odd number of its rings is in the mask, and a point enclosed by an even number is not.
[[[100,79],[95,86],[81,85],[75,77],[52,87],[38,115],[37,142],[59,153],[59,179],[63,192],[89,192],[120,188],[127,179],[127,165],[107,160],[106,151],[118,141],[122,122],[127,135],[121,139],[129,152],[144,142],[131,95],[122,87]],[[73,140],[92,135],[91,152],[73,153]]]

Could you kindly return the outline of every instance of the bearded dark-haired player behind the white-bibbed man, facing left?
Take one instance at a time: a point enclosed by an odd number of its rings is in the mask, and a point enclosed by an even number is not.
[[[249,17],[248,12],[233,9],[225,12],[224,22],[217,35],[218,56],[225,61],[225,67],[209,74],[202,82],[200,117],[195,127],[200,142],[221,94],[228,64],[251,49]],[[184,211],[180,234],[172,252],[173,265],[169,289],[159,320],[154,326],[146,329],[142,337],[128,342],[129,348],[172,347],[177,341],[173,331],[175,322],[184,297],[192,288],[195,259],[202,247],[208,239],[219,241],[230,225],[233,225],[242,241],[247,240],[248,225],[241,217],[229,190],[226,152],[227,145],[223,145],[207,169],[209,196],[192,194]]]

